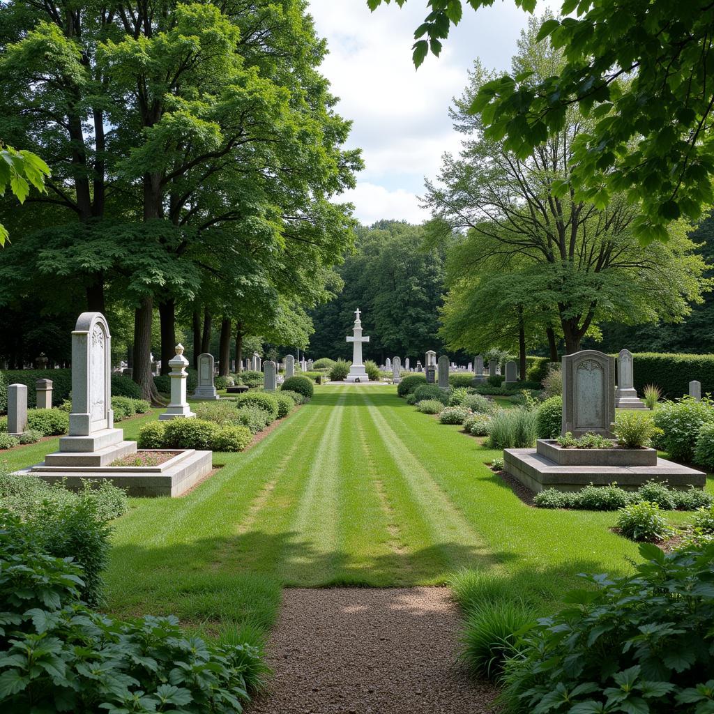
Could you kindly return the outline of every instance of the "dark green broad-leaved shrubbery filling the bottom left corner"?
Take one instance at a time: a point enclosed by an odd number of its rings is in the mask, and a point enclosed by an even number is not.
[[[43,546],[31,524],[0,513],[4,711],[242,710],[263,674],[258,650],[207,645],[174,617],[96,613],[80,599],[86,570]]]

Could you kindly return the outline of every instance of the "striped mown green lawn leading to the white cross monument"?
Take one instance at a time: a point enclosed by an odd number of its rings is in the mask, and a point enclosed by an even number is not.
[[[253,448],[215,453],[223,468],[195,491],[131,501],[107,610],[259,640],[286,586],[438,585],[491,568],[548,609],[576,573],[638,558],[609,531],[614,513],[526,506],[486,466],[498,453],[459,429],[393,386],[318,387]]]

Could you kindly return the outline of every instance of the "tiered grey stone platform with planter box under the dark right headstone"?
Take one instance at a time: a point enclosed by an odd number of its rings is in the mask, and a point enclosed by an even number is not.
[[[588,483],[635,491],[648,481],[667,481],[670,488],[703,488],[706,474],[658,458],[654,449],[564,449],[555,441],[539,439],[537,448],[503,450],[506,473],[539,493],[545,488],[578,491]]]

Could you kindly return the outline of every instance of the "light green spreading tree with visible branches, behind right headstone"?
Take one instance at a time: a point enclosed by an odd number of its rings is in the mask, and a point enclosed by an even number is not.
[[[514,71],[531,73],[534,82],[557,73],[562,62],[560,51],[536,40],[538,24],[533,20],[522,34],[513,60]],[[645,250],[634,236],[635,208],[623,196],[601,209],[578,201],[573,187],[562,198],[555,186],[570,184],[573,146],[587,126],[571,109],[563,131],[520,158],[507,141],[489,138],[469,111],[491,76],[476,63],[452,113],[465,135],[461,156],[447,155],[438,182],[427,183],[432,226],[446,236],[467,231],[452,251],[450,283],[458,292],[466,284],[481,293],[484,283],[511,273],[518,276],[516,305],[530,283],[529,303],[548,319],[557,316],[567,353],[603,321],[680,321],[710,288],[687,226],[673,223],[666,243]],[[453,309],[448,316],[458,318]]]

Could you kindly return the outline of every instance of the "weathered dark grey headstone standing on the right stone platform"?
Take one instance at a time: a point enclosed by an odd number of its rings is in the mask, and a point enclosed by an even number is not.
[[[563,357],[563,434],[613,437],[615,358],[597,350]]]

